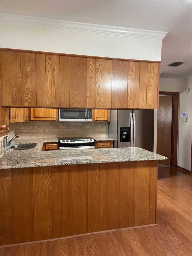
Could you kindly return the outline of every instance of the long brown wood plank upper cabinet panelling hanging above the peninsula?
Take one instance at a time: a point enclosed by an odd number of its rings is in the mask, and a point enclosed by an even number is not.
[[[0,50],[1,105],[158,108],[159,63]]]

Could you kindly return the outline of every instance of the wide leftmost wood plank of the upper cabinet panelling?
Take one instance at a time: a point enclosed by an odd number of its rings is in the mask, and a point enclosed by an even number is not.
[[[20,52],[0,51],[1,105],[21,106]]]

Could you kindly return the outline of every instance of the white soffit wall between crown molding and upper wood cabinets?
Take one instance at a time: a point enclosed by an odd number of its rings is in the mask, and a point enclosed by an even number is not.
[[[0,24],[0,47],[161,61],[161,40]]]

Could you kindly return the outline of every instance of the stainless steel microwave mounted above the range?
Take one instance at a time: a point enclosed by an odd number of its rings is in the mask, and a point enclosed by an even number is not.
[[[60,108],[59,122],[93,122],[93,110]]]

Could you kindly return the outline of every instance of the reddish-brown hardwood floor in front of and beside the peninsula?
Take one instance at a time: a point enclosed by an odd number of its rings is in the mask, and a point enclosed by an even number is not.
[[[158,226],[0,248],[0,256],[191,256],[191,174],[158,170]]]

